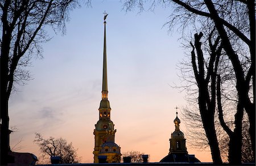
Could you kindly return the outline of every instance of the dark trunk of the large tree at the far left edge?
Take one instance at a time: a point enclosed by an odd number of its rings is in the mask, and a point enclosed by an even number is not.
[[[7,10],[9,8],[10,1],[5,1],[2,14],[2,45],[1,45],[1,56],[0,56],[0,118],[1,124],[1,136],[0,136],[0,165],[7,165],[8,152],[10,151],[9,145],[9,116],[8,116],[8,100],[9,95],[7,94],[8,87],[8,62],[11,42],[11,30],[10,25],[7,22]]]

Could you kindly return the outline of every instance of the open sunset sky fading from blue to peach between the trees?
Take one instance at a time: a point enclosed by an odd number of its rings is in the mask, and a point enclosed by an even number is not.
[[[168,155],[175,130],[176,109],[187,105],[177,65],[185,50],[181,33],[168,32],[169,8],[154,12],[122,10],[120,1],[93,1],[70,13],[65,35],[49,29],[51,41],[42,45],[43,59],[32,59],[32,80],[19,86],[9,100],[10,135],[19,152],[40,156],[35,133],[64,138],[78,148],[81,163],[93,163],[93,130],[101,101],[104,14],[108,58],[108,90],[115,143],[121,153],[140,151],[158,162]],[[170,86],[171,85],[171,86]],[[177,109],[180,113],[181,109]],[[180,115],[180,114],[179,114]],[[181,131],[187,130],[181,120]],[[212,161],[209,151],[189,146],[189,154]]]

